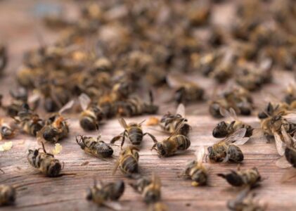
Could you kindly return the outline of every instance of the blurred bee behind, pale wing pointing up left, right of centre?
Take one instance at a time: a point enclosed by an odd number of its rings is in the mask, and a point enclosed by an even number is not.
[[[177,103],[189,103],[202,101],[203,99],[204,89],[181,75],[168,75],[167,83],[169,87],[176,89],[174,91],[174,101]]]

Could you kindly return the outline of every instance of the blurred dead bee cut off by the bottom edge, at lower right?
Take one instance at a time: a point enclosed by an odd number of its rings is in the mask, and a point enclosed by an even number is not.
[[[235,199],[229,200],[227,202],[227,207],[229,210],[233,211],[266,210],[266,205],[262,205],[259,201],[255,200],[255,193],[250,193],[249,188],[243,189],[243,191],[238,193],[238,196],[236,196]]]

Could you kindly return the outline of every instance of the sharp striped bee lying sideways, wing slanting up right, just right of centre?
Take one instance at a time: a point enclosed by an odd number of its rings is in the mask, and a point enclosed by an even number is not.
[[[151,136],[153,139],[154,145],[151,150],[155,149],[160,157],[167,157],[174,155],[176,151],[185,151],[191,145],[191,141],[187,136],[178,134],[179,129],[182,127],[183,122],[179,124],[179,127],[176,128],[176,131],[172,133],[168,138],[158,142],[154,136]]]

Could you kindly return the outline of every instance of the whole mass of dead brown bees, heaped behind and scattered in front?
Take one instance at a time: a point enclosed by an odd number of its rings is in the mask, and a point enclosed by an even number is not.
[[[296,58],[296,4],[291,1],[243,1],[236,5],[236,21],[231,27],[211,23],[213,5],[220,1],[102,1],[83,3],[76,20],[64,13],[46,15],[44,24],[60,30],[56,43],[41,43],[25,53],[16,75],[19,89],[11,91],[11,103],[0,98],[0,106],[13,118],[13,126],[1,120],[0,139],[12,139],[18,131],[36,136],[43,148],[30,149],[27,160],[47,177],[63,175],[63,162],[47,153],[44,143],[65,139],[70,126],[63,113],[78,111],[79,124],[85,131],[99,129],[108,119],[119,118],[122,133],[110,143],[97,137],[77,136],[86,153],[102,160],[113,155],[116,141],[121,151],[119,168],[134,179],[131,187],[141,193],[149,210],[167,210],[161,201],[161,181],[156,174],[139,172],[139,146],[144,136],[152,139],[159,157],[168,157],[191,146],[191,126],[185,117],[188,103],[208,101],[212,117],[226,117],[214,127],[212,135],[221,139],[213,146],[198,148],[196,159],[186,165],[179,177],[191,179],[193,186],[207,185],[208,162],[244,160],[239,145],[257,131],[275,141],[281,158],[278,167],[296,167],[296,86],[290,84],[285,97],[270,101],[259,110],[260,128],[242,122],[238,115],[252,115],[255,103],[252,92],[273,82],[275,69],[293,70]],[[267,6],[266,6],[267,5]],[[200,36],[198,30],[206,36]],[[0,72],[8,60],[6,46],[0,45]],[[230,86],[208,97],[205,87],[186,75],[211,78],[217,86]],[[123,117],[155,115],[155,92],[174,91],[170,102],[178,106],[175,113],[149,121],[169,134],[162,141],[141,124],[126,122]],[[161,90],[161,91],[160,91]],[[158,96],[157,96],[158,97]],[[37,110],[42,105],[48,119]],[[79,104],[79,105],[77,105]],[[152,122],[152,123],[151,123]],[[130,146],[124,146],[128,139]],[[231,186],[243,191],[229,200],[230,210],[265,210],[255,200],[254,188],[262,177],[256,167],[218,174]],[[99,206],[121,210],[114,203],[124,193],[124,181],[95,181],[87,191],[87,200]],[[0,186],[0,205],[15,201],[13,186]]]

